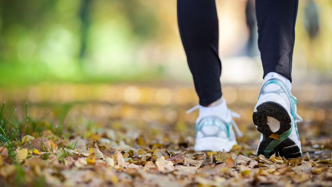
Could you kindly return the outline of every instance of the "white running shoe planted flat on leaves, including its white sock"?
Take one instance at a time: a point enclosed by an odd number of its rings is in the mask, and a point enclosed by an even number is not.
[[[187,111],[190,113],[200,109],[199,117],[196,120],[196,151],[230,151],[236,145],[235,134],[232,129],[234,126],[238,136],[242,136],[233,117],[239,118],[240,115],[227,108],[226,101],[214,107],[203,107],[197,105]]]

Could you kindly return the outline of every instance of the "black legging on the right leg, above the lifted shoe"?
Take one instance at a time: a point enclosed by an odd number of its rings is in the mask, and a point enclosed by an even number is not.
[[[256,0],[258,48],[265,77],[269,72],[291,82],[298,0]]]

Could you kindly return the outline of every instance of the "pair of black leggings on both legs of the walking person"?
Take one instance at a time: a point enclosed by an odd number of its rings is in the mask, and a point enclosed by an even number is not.
[[[291,81],[298,0],[256,0],[255,5],[263,78],[269,72],[277,72]],[[195,89],[200,104],[207,105],[222,95],[215,0],[178,0],[177,8],[181,40]]]

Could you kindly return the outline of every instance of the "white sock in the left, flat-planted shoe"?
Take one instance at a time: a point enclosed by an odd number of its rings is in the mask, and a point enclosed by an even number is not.
[[[221,103],[217,106],[204,107],[200,105],[199,108],[200,108],[200,114],[197,118],[198,121],[206,116],[218,116],[225,119],[228,115],[228,108],[226,105],[226,101],[223,98]]]

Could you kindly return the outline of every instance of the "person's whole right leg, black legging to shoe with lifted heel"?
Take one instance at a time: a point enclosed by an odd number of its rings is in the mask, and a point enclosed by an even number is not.
[[[257,154],[301,156],[296,98],[291,94],[291,65],[298,0],[256,0],[258,47],[264,83],[253,113],[262,133]]]

